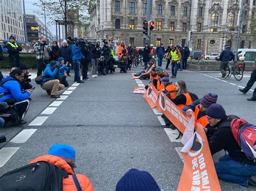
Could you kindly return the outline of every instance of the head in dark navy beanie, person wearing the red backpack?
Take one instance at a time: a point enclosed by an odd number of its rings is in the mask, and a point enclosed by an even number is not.
[[[217,123],[220,122],[221,119],[226,117],[226,111],[222,107],[222,105],[218,103],[213,103],[206,110],[206,117],[210,125],[215,126]]]

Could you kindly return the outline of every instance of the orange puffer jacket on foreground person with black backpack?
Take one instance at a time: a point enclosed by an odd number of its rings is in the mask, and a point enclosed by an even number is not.
[[[59,166],[62,168],[64,171],[66,171],[69,174],[69,178],[63,179],[63,191],[73,191],[77,190],[75,182],[73,181],[72,175],[74,174],[72,168],[70,165],[62,158],[57,157],[55,155],[50,155],[46,154],[41,157],[37,157],[36,159],[33,159],[29,162],[29,164],[33,162],[38,162],[38,161],[47,161],[53,165]],[[89,178],[87,178],[83,174],[76,174],[77,179],[80,183],[80,186],[83,191],[93,191],[93,186]]]

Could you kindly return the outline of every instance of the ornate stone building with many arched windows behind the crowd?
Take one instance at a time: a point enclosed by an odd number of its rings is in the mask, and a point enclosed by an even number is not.
[[[256,0],[244,0],[240,48],[256,47],[251,35],[251,18]],[[144,46],[143,21],[146,0],[97,0],[89,8],[87,38],[111,37]],[[235,48],[241,0],[153,0],[151,43],[184,45],[192,31],[190,47],[204,53],[220,52],[226,43]]]

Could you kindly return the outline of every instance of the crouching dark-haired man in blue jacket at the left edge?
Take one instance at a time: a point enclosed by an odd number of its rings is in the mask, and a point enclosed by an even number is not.
[[[33,90],[21,90],[20,82],[23,79],[24,73],[21,69],[12,70],[10,76],[2,79],[0,93],[4,93],[4,96],[0,98],[0,102],[8,103],[8,108],[3,112],[11,115],[10,117],[4,117],[5,126],[23,125],[26,123],[23,118],[29,109],[30,101],[28,98]]]

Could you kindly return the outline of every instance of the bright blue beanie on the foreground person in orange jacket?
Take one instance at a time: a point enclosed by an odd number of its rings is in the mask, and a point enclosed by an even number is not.
[[[76,151],[73,147],[65,144],[52,145],[48,154],[56,155],[67,162],[72,162],[75,164],[76,161]]]

